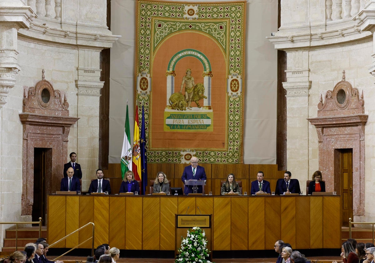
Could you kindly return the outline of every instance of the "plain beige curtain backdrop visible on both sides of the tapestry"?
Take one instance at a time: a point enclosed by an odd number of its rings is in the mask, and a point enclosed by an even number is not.
[[[110,163],[120,163],[126,100],[131,137],[134,129],[135,5],[135,0],[111,1],[111,31],[121,38],[111,49]],[[277,52],[266,36],[277,31],[278,1],[248,2],[246,12],[243,163],[275,164]]]

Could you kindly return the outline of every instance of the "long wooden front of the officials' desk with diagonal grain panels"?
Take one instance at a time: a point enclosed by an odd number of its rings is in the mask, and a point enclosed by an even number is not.
[[[273,249],[279,239],[295,249],[341,245],[339,196],[49,195],[48,204],[50,243],[93,222],[95,246],[109,243],[119,249],[170,251],[174,250],[174,215],[201,212],[213,214],[216,251]],[[88,227],[54,247],[73,247],[91,231]],[[91,248],[91,241],[80,248]]]

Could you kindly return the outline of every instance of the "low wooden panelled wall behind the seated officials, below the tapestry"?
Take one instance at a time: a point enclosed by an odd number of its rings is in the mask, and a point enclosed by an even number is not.
[[[157,172],[164,172],[168,180],[171,180],[171,187],[183,187],[181,176],[184,167],[187,164],[181,163],[148,163],[147,164],[147,182],[156,178]],[[236,180],[242,180],[242,191],[250,193],[251,182],[257,180],[257,172],[264,172],[264,180],[269,181],[271,191],[275,191],[276,181],[282,178],[285,171],[278,171],[278,165],[249,165],[249,164],[219,164],[219,163],[204,163],[207,175],[207,184],[205,192],[212,191],[213,195],[220,195],[220,181],[226,180],[228,174],[233,173]],[[104,170],[105,178],[111,179],[112,193],[118,193],[121,185],[121,165],[120,163],[110,163],[108,170]],[[147,185],[148,187],[149,185]],[[300,182],[301,189],[304,189],[305,182]],[[147,188],[148,190],[148,188]],[[87,189],[83,189],[87,191]],[[304,190],[303,190],[304,191]]]

